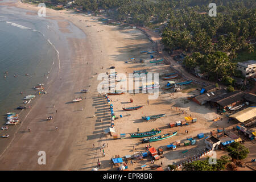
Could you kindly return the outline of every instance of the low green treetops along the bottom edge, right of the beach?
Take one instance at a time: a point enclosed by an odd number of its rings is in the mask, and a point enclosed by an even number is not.
[[[192,163],[184,164],[183,170],[187,171],[220,171],[226,168],[230,162],[229,156],[221,156],[217,159],[216,164],[209,163],[209,157],[205,160],[196,160]]]

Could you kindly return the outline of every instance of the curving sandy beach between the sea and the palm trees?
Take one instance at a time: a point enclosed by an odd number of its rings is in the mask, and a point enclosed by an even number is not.
[[[30,10],[27,15],[37,16],[39,7],[20,2],[1,3],[0,6],[15,6]],[[173,72],[170,65],[151,64],[149,55],[142,55],[141,51],[152,50],[155,44],[147,39],[143,32],[132,27],[108,26],[98,21],[95,16],[86,14],[72,14],[67,10],[47,9],[46,19],[55,20],[59,31],[67,35],[68,47],[57,45],[60,63],[52,69],[46,89],[48,94],[36,100],[30,110],[24,114],[22,125],[13,138],[8,138],[9,144],[0,155],[0,170],[91,170],[97,167],[97,159],[102,163],[100,170],[117,170],[110,163],[115,155],[121,157],[132,155],[135,151],[145,151],[145,144],[141,140],[131,138],[129,133],[149,131],[154,128],[162,129],[162,134],[178,131],[175,137],[151,143],[155,148],[164,148],[164,158],[156,161],[168,164],[179,163],[185,158],[199,154],[204,149],[204,141],[198,140],[196,146],[182,146],[176,151],[166,151],[166,145],[175,140],[184,140],[188,136],[195,137],[199,133],[210,133],[218,127],[230,127],[226,118],[213,122],[217,117],[210,107],[199,106],[188,101],[199,92],[200,86],[192,84],[184,86],[184,92],[174,93],[159,89],[156,100],[148,100],[148,94],[125,93],[120,96],[109,96],[117,117],[114,128],[119,134],[125,133],[125,139],[114,140],[104,135],[104,130],[110,127],[109,105],[106,99],[99,96],[97,80],[99,73],[109,72],[114,66],[115,72],[133,73],[134,70],[147,69],[150,73]],[[70,38],[71,24],[79,28],[86,35],[85,38]],[[68,52],[68,53],[67,53]],[[134,57],[144,59],[145,63],[125,63]],[[158,57],[159,59],[161,57]],[[103,67],[103,69],[102,69]],[[174,81],[184,81],[177,78]],[[167,81],[159,78],[160,88]],[[81,94],[80,90],[88,89],[88,93]],[[76,97],[84,100],[72,103]],[[130,98],[133,103],[130,103]],[[142,109],[123,111],[122,107],[143,105]],[[181,110],[185,113],[181,114]],[[146,122],[141,119],[145,115],[166,114],[166,117],[156,121]],[[180,114],[178,114],[180,113]],[[48,115],[53,115],[53,121],[46,121]],[[189,126],[170,128],[168,124],[182,120],[191,115],[197,122]],[[101,122],[102,119],[102,122]],[[235,123],[233,123],[235,125]],[[31,132],[28,131],[28,127]],[[56,130],[56,127],[58,129]],[[185,130],[189,133],[185,134]],[[7,139],[7,140],[8,140]],[[102,157],[101,146],[105,143],[105,156]],[[139,145],[137,146],[137,143]],[[93,147],[94,144],[94,147]],[[133,149],[134,148],[134,149]],[[182,151],[189,150],[186,154]],[[38,164],[38,152],[46,152],[46,165]],[[248,159],[249,160],[249,159]],[[150,165],[150,160],[138,163],[128,163],[130,170],[141,170],[141,166]],[[148,170],[150,168],[146,168]]]

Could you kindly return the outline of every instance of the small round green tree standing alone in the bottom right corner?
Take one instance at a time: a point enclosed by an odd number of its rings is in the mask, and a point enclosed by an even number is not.
[[[238,160],[245,159],[250,153],[249,149],[245,148],[245,146],[239,142],[231,143],[230,146],[226,148],[226,150],[229,152],[229,155],[232,159],[238,158]]]

